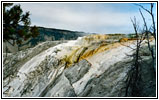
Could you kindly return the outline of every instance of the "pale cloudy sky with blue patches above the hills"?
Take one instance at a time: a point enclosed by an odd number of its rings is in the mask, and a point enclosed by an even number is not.
[[[141,24],[139,7],[132,3],[20,3],[30,11],[31,25],[89,33],[132,33],[130,18]],[[143,4],[145,7],[148,5]],[[150,16],[143,12],[146,20]],[[149,23],[150,24],[150,23]]]

